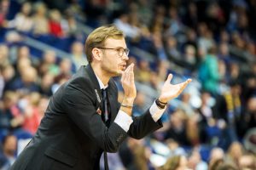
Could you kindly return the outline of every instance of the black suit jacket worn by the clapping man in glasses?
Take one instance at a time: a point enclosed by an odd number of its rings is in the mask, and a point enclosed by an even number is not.
[[[149,111],[133,118],[127,133],[114,121],[119,111],[118,90],[108,82],[110,126],[97,113],[102,94],[90,65],[82,66],[51,97],[38,132],[20,153],[11,169],[99,169],[102,151],[116,152],[127,135],[141,139],[162,127]]]

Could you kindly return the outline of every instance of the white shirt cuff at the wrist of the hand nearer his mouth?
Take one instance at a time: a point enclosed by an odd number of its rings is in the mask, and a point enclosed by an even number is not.
[[[122,127],[125,132],[127,133],[131,123],[133,122],[131,116],[127,115],[125,111],[118,112],[117,116],[114,119],[114,122],[119,125],[119,127]]]

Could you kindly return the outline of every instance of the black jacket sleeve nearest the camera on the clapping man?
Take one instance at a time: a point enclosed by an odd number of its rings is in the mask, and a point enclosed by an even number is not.
[[[84,77],[67,83],[61,97],[63,110],[84,135],[95,141],[102,150],[116,152],[127,134],[114,122],[109,128],[105,126],[101,116],[96,113],[95,101],[95,89]]]

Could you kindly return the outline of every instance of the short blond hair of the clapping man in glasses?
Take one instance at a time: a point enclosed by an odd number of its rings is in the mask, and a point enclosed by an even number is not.
[[[125,34],[113,25],[98,27],[90,33],[85,42],[85,54],[89,63],[92,61],[92,49],[104,47],[104,42],[109,37],[120,39],[125,37]]]

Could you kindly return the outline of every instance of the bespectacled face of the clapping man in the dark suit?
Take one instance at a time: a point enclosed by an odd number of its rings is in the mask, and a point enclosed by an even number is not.
[[[111,49],[110,49],[111,48]],[[102,71],[110,77],[120,76],[126,68],[126,61],[129,59],[125,53],[125,38],[108,38],[102,50]],[[121,52],[119,51],[121,50]]]

